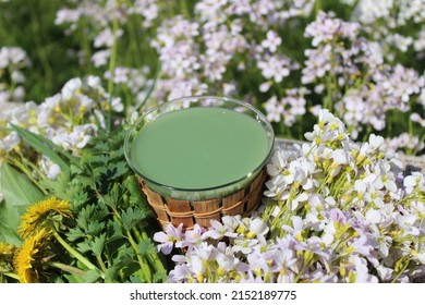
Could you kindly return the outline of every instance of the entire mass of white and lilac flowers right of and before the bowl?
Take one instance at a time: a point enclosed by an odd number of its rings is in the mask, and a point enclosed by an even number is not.
[[[319,112],[302,154],[277,149],[252,218],[209,230],[168,224],[154,239],[173,256],[171,282],[408,282],[425,272],[425,176],[404,175],[385,139],[353,143]]]

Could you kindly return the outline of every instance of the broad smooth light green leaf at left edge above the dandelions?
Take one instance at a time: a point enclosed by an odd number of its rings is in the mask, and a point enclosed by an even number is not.
[[[14,170],[9,163],[1,168],[0,190],[4,202],[0,203],[0,241],[21,244],[17,234],[21,216],[28,205],[44,198],[38,190],[25,175]]]

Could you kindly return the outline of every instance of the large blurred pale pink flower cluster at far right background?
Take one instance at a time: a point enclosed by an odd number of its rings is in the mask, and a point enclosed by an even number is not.
[[[306,50],[302,70],[303,84],[314,84],[315,93],[326,94],[324,107],[335,106],[353,138],[365,127],[382,131],[388,112],[424,109],[420,106],[424,77],[386,62],[385,46],[365,39],[361,29],[357,22],[319,13],[305,29],[315,48]]]

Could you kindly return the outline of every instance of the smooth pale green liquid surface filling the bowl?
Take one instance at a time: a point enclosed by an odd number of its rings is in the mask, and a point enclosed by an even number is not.
[[[223,108],[189,108],[159,115],[136,135],[133,167],[175,188],[202,190],[240,180],[268,155],[266,130]]]

